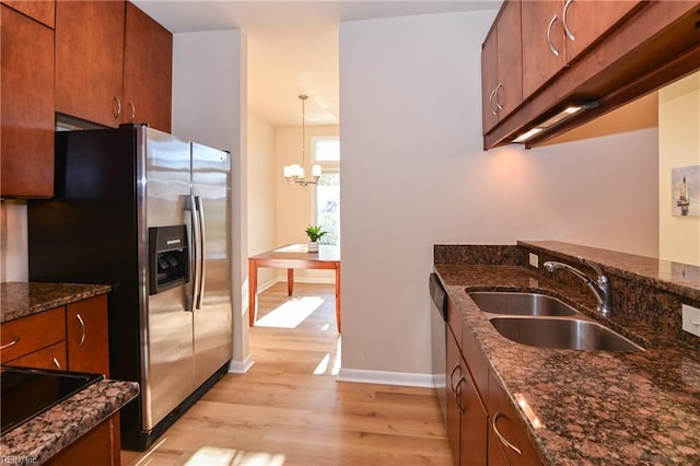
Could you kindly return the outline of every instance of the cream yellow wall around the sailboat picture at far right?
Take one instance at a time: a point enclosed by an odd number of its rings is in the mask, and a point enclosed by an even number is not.
[[[660,91],[658,133],[658,254],[700,266],[700,217],[672,214],[670,182],[673,168],[700,165],[700,72]]]

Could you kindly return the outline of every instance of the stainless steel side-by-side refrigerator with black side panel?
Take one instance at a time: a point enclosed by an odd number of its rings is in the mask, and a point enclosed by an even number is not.
[[[112,378],[144,450],[228,371],[231,160],[145,126],[56,133],[56,195],[27,202],[31,281],[108,283]]]

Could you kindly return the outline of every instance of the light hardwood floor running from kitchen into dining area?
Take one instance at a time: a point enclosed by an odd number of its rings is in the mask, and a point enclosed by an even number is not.
[[[265,326],[317,305],[295,328]],[[248,373],[224,376],[150,451],[124,451],[122,466],[452,465],[432,389],[336,380],[332,284],[296,283],[290,299],[277,283],[258,310]]]

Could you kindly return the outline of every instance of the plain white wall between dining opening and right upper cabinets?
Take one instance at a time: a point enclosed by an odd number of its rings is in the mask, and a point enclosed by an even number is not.
[[[340,26],[341,378],[428,382],[433,244],[657,251],[656,131],[481,151],[494,15]]]

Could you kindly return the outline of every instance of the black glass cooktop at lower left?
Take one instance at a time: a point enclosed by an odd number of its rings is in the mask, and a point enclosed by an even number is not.
[[[100,374],[0,366],[0,434],[19,427],[84,387]]]

